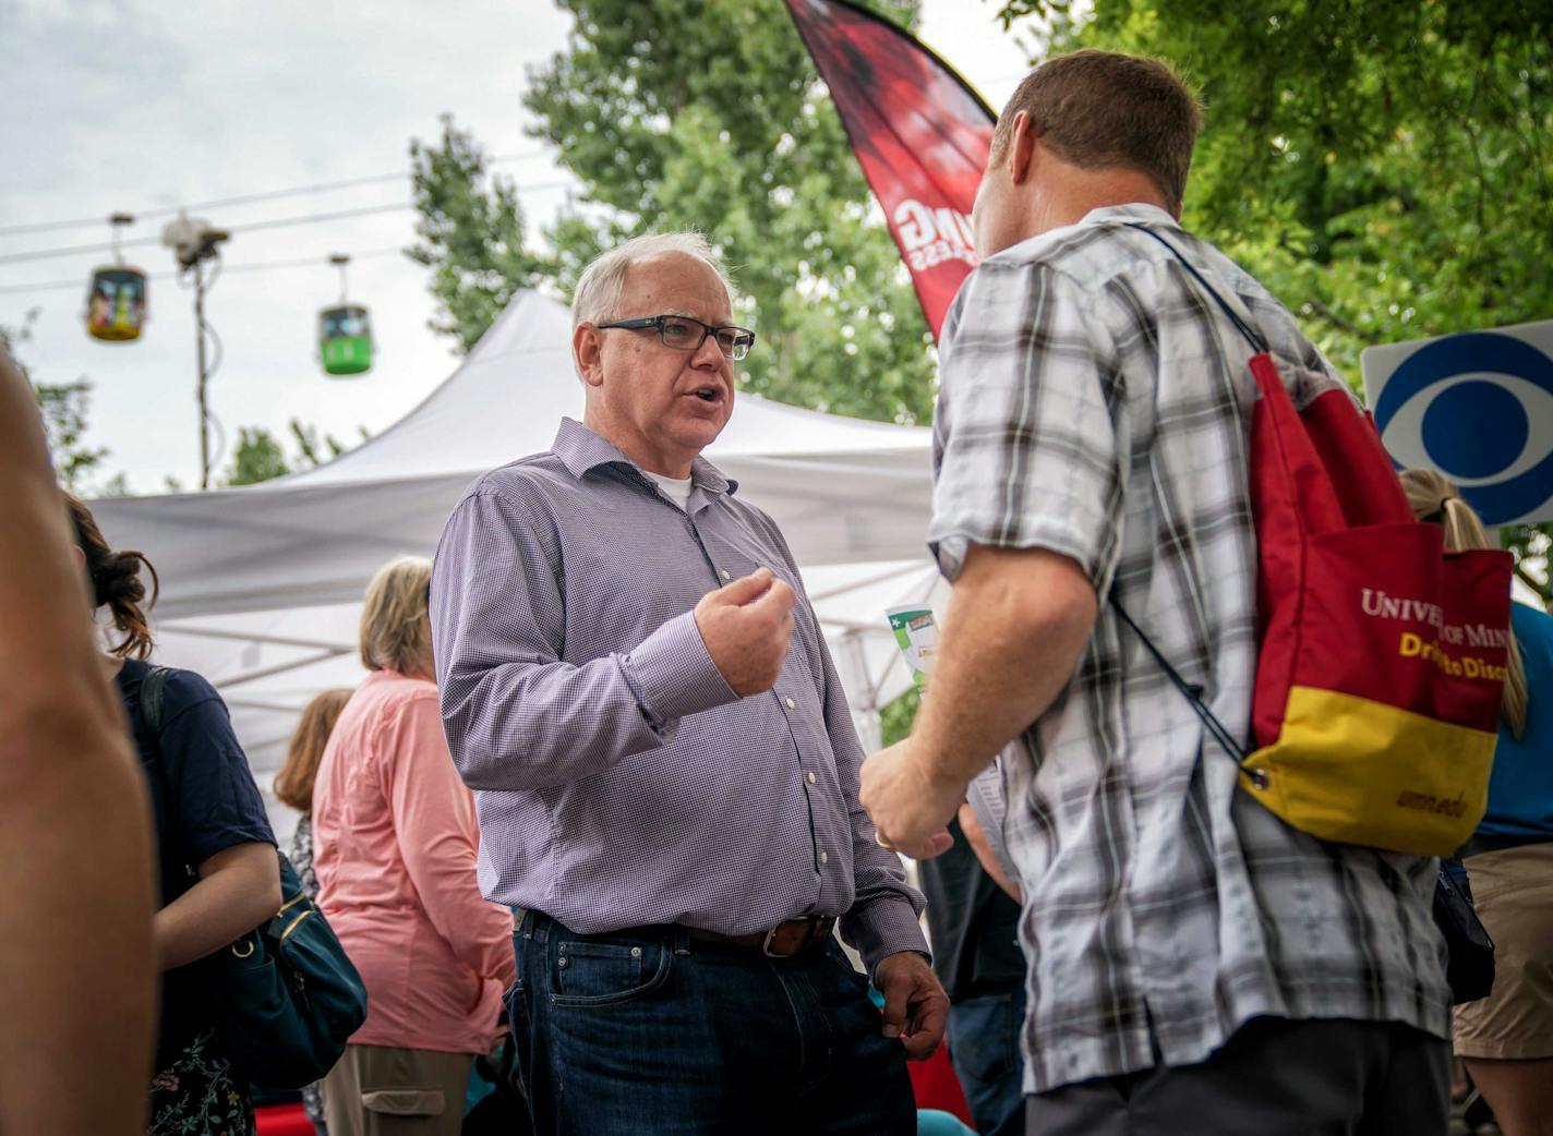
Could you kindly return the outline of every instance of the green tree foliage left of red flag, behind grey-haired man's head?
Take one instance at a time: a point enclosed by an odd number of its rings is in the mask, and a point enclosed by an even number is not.
[[[441,147],[418,146],[422,236],[441,250],[441,259],[422,261],[438,272],[433,292],[446,317],[438,326],[467,348],[512,286],[548,275],[567,300],[601,248],[637,233],[696,228],[733,265],[744,298],[736,318],[759,337],[742,365],[747,390],[845,414],[926,421],[927,324],[786,9],[745,0],[561,6],[576,17],[570,40],[533,73],[525,102],[584,194],[548,230],[548,265],[492,264],[481,228],[517,247],[509,191],[500,182],[485,188],[478,146],[450,124]],[[874,6],[898,22],[916,19],[916,0]],[[450,281],[466,278],[480,282],[483,300],[457,309]]]

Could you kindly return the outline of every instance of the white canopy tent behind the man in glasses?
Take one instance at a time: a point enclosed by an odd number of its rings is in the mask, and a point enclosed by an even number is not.
[[[307,700],[360,681],[371,574],[399,554],[430,556],[464,487],[548,449],[562,416],[582,416],[570,317],[522,292],[426,402],[326,466],[93,503],[107,539],[143,549],[162,576],[157,658],[221,689],[266,791]],[[938,587],[924,546],[929,431],[745,394],[707,456],[783,528],[876,743],[877,708],[909,681],[884,608],[932,601]]]

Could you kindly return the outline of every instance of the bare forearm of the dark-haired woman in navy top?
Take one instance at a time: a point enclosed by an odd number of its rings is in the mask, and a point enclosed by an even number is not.
[[[157,913],[162,970],[219,951],[281,906],[273,844],[235,844],[199,866],[199,883]]]

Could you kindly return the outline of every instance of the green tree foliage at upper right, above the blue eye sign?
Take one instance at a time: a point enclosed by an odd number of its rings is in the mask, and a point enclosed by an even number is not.
[[[1545,0],[1009,0],[1000,14],[1054,50],[1186,71],[1207,127],[1185,223],[1300,312],[1354,383],[1365,346],[1553,317]],[[1547,546],[1534,529],[1505,537],[1528,560]]]

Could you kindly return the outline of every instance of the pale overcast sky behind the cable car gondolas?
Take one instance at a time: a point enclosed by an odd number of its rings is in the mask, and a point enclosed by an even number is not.
[[[1027,53],[997,28],[995,5],[924,0],[922,9],[922,39],[1000,106]],[[509,158],[499,168],[517,178],[537,228],[570,189],[525,132],[525,71],[564,47],[568,23],[544,0],[0,0],[0,230],[102,219],[0,233],[0,324],[16,327],[39,309],[17,351],[34,377],[93,382],[89,441],[110,450],[107,472],[127,473],[135,492],[160,492],[166,475],[197,484],[193,296],[154,278],[144,337],[96,343],[82,309],[87,276],[107,255],[8,258],[104,244],[106,217],[120,210],[149,214],[407,171],[410,138],[435,138],[443,112]],[[449,340],[426,327],[426,270],[393,251],[413,239],[412,210],[242,231],[408,200],[405,175],[194,211],[233,230],[207,301],[225,349],[211,407],[230,436],[239,425],[280,433],[297,416],[353,441],[357,427],[376,433],[394,422],[457,366]],[[126,241],[160,237],[168,219],[146,216]],[[339,293],[331,251],[359,258],[351,298],[373,312],[377,363],[354,380],[328,379],[317,362],[317,309]],[[152,275],[172,268],[160,244],[124,256]],[[314,264],[244,270],[294,259]]]

